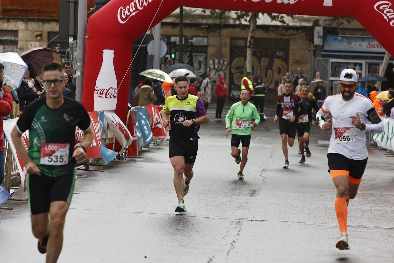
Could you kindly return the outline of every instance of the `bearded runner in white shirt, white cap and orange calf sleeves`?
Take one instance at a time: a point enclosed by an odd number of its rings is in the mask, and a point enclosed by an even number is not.
[[[344,69],[338,84],[341,94],[327,97],[316,119],[323,131],[332,130],[327,159],[336,187],[335,212],[341,233],[336,248],[345,250],[350,249],[346,222],[349,199],[357,194],[368,160],[365,132],[381,133],[383,124],[371,100],[355,93],[358,83],[353,69]],[[330,113],[333,118],[325,121]]]

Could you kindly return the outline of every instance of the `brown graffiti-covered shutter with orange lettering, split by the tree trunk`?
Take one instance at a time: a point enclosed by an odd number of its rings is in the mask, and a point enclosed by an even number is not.
[[[232,38],[230,47],[229,99],[239,99],[241,80],[246,75],[246,39]],[[264,84],[273,89],[289,69],[288,39],[255,39],[252,57],[253,80],[260,76]]]

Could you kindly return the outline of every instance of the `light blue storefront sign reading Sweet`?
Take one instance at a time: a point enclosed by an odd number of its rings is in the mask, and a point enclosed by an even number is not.
[[[373,37],[341,37],[338,35],[328,35],[324,39],[324,50],[370,53],[386,52]]]

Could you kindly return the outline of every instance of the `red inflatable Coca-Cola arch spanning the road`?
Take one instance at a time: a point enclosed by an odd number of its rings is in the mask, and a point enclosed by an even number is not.
[[[112,0],[88,21],[82,103],[88,111],[116,109],[125,122],[132,42],[179,6],[355,17],[394,54],[393,4],[394,0]]]

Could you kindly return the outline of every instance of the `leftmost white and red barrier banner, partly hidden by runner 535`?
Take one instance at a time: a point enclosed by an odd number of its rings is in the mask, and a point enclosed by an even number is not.
[[[17,166],[19,170],[19,175],[20,175],[20,180],[22,183],[20,183],[20,186],[18,189],[13,192],[12,196],[14,198],[20,198],[20,199],[27,199],[27,188],[26,188],[26,166],[20,158],[19,154],[17,154],[17,151],[15,149],[15,145],[12,142],[11,139],[11,131],[14,129],[15,125],[17,124],[19,118],[15,119],[7,119],[3,122],[3,131],[4,134],[7,137],[9,147],[11,148],[12,154],[14,155],[15,160],[17,161]],[[26,131],[22,134],[22,141],[24,146],[26,147],[26,151],[29,149],[29,131]]]

